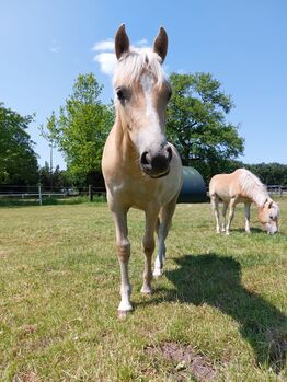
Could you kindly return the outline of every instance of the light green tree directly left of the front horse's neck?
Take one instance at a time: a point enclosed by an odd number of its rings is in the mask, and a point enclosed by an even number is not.
[[[48,136],[62,151],[76,183],[92,183],[101,171],[102,150],[112,126],[113,112],[99,100],[103,86],[94,74],[80,74],[72,94],[60,107],[59,118],[48,119]]]

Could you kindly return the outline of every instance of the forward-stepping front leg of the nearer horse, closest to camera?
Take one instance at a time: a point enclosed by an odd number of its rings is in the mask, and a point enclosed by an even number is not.
[[[131,285],[128,277],[128,261],[130,256],[130,244],[127,230],[127,209],[116,208],[113,210],[115,229],[116,229],[116,246],[117,256],[120,267],[120,303],[118,305],[119,316],[125,316],[127,312],[133,310],[130,303]]]

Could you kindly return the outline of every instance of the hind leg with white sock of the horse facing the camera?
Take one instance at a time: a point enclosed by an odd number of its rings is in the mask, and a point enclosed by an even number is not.
[[[165,239],[171,227],[172,217],[176,207],[176,197],[167,206],[163,206],[160,212],[160,224],[158,224],[157,233],[159,236],[159,252],[154,263],[153,276],[161,276],[163,273],[163,261],[165,258]]]

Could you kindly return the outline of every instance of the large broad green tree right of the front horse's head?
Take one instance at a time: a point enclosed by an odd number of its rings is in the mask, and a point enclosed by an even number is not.
[[[172,73],[170,83],[173,95],[168,106],[168,136],[183,164],[196,167],[208,182],[243,152],[238,127],[226,120],[233,107],[231,97],[209,73]]]

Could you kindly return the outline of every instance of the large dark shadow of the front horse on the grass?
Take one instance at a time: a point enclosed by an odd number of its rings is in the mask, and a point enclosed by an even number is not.
[[[230,315],[240,324],[257,363],[279,372],[287,355],[287,317],[241,283],[241,265],[217,254],[185,255],[175,262],[180,267],[165,271],[175,290],[165,291],[164,300],[208,303]]]

